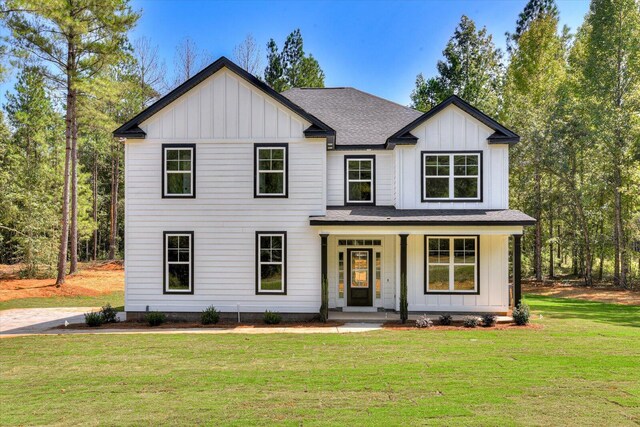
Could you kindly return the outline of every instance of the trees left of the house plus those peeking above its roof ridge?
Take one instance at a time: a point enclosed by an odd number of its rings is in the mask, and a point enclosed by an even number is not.
[[[0,110],[0,263],[22,263],[25,277],[61,285],[79,261],[122,256],[124,150],[111,133],[213,61],[184,38],[167,73],[158,46],[130,39],[139,17],[128,0],[0,3],[0,78],[17,72]],[[272,87],[324,85],[300,30],[267,48]],[[259,74],[252,36],[234,56]]]

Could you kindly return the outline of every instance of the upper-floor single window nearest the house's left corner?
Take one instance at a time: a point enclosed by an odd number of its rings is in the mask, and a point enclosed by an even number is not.
[[[196,197],[195,144],[162,145],[162,197]]]

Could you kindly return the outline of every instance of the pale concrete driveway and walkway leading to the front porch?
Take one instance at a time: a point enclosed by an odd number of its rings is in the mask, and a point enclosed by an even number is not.
[[[251,328],[234,326],[229,328],[163,328],[124,329],[114,325],[110,329],[52,329],[72,323],[84,322],[84,313],[97,310],[96,307],[65,308],[19,308],[0,311],[0,338],[25,335],[67,335],[67,334],[345,334],[376,331],[382,323],[345,323],[331,327],[273,327]],[[124,320],[124,313],[118,313]]]

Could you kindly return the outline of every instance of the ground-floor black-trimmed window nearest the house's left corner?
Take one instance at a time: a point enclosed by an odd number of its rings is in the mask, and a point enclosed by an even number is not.
[[[164,232],[164,293],[193,293],[193,231]]]

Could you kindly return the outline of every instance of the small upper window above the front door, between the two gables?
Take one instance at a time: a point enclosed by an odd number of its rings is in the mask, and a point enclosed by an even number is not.
[[[375,204],[375,156],[345,156],[345,205]]]

